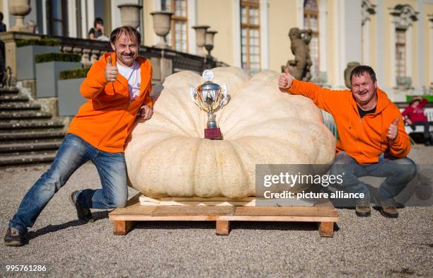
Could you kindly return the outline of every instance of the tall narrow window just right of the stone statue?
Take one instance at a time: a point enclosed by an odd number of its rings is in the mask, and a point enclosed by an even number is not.
[[[304,1],[304,29],[313,30],[311,35],[310,57],[311,62],[311,74],[317,76],[319,72],[319,40],[318,40],[318,6],[316,0],[305,0]]]

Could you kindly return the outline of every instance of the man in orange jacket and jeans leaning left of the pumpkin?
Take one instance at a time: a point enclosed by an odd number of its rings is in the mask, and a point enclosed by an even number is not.
[[[127,173],[125,141],[137,113],[142,120],[153,114],[152,69],[149,60],[138,57],[141,35],[132,27],[112,31],[110,45],[95,62],[80,92],[88,98],[69,125],[69,131],[46,173],[30,188],[18,212],[9,222],[5,245],[23,245],[28,227],[76,169],[87,161],[95,164],[102,188],[72,192],[70,199],[81,221],[93,222],[90,209],[125,207]]]

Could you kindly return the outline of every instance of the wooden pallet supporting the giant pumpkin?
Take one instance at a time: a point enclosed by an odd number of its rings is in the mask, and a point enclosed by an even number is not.
[[[236,207],[236,206],[142,206],[135,195],[127,206],[109,214],[115,235],[126,235],[137,221],[216,221],[216,233],[226,236],[231,221],[317,222],[323,237],[334,236],[338,214],[328,199],[316,200],[313,207]]]

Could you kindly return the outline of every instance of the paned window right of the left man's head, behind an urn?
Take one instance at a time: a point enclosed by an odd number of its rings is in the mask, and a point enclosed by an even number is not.
[[[173,50],[187,52],[187,0],[162,0],[161,9],[173,13],[170,33],[166,36],[167,44],[171,45]]]

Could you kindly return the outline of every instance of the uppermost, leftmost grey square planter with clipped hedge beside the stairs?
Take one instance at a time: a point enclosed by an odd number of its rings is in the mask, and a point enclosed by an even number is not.
[[[54,39],[16,40],[16,66],[18,80],[36,79],[35,55],[60,52]]]

